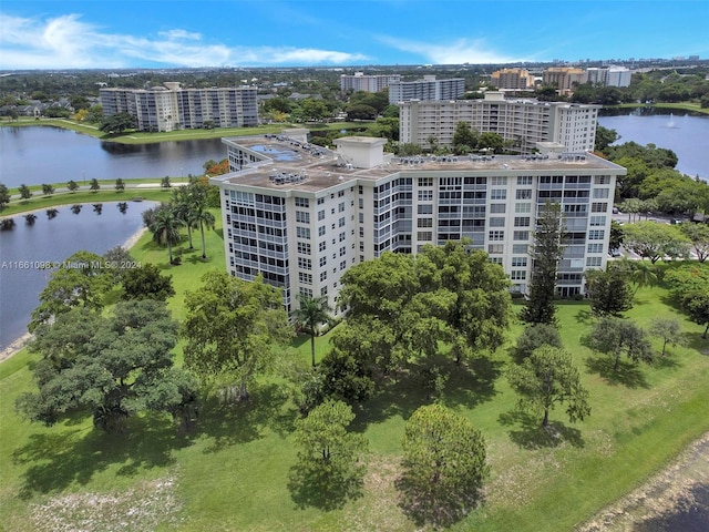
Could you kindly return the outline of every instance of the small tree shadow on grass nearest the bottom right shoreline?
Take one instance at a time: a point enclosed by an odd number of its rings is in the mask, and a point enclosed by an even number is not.
[[[518,430],[510,430],[510,439],[522,449],[551,449],[568,443],[573,447],[586,446],[580,430],[566,427],[561,421],[549,421],[542,427],[541,417],[526,412],[512,411],[500,415],[500,423],[505,427],[518,426]]]

